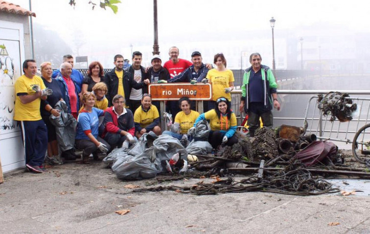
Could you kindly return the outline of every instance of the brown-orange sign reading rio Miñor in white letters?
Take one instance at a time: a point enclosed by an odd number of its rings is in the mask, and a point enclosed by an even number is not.
[[[212,85],[202,83],[195,85],[190,83],[150,84],[149,94],[153,101],[177,101],[182,97],[196,101],[210,100],[212,98]]]

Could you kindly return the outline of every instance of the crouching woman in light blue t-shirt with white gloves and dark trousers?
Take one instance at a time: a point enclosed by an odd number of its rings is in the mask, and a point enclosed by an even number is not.
[[[98,136],[99,117],[104,111],[93,107],[96,97],[91,92],[81,96],[82,110],[77,118],[76,148],[83,149],[82,162],[89,164],[89,156],[93,153],[94,160],[98,160],[98,149],[105,153],[111,148],[110,145]]]

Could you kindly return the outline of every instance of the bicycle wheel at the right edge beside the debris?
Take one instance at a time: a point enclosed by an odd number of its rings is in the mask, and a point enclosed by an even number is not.
[[[360,163],[370,166],[370,124],[360,128],[353,138],[352,154]]]

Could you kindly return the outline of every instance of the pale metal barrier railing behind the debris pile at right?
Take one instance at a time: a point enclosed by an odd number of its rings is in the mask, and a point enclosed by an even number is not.
[[[303,127],[304,121],[307,121],[308,128],[307,134],[316,134],[319,139],[332,140],[344,143],[352,143],[354,134],[359,128],[370,123],[370,91],[363,90],[339,90],[338,92],[348,93],[349,99],[353,103],[357,104],[357,112],[351,121],[341,123],[338,120],[330,122],[330,116],[323,116],[322,111],[317,107],[318,94],[326,94],[332,90],[277,90],[278,98],[284,99],[289,96],[297,96],[302,99],[299,100],[296,106],[292,106],[289,103],[282,108],[281,111],[275,111],[274,113],[274,126],[280,126],[281,124]],[[315,95],[315,96],[312,96]],[[367,95],[367,97],[355,97],[359,95]],[[241,90],[233,90],[231,95],[232,109],[237,115],[238,125],[245,118],[244,113],[239,112]],[[303,101],[302,101],[303,100]],[[305,101],[304,101],[305,100]],[[303,105],[303,102],[305,105]],[[293,102],[294,103],[294,102]],[[281,102],[284,105],[284,100]],[[302,105],[301,105],[302,104]],[[297,112],[290,111],[293,108],[298,109]],[[290,109],[289,109],[290,108]],[[285,111],[287,110],[287,111]],[[290,116],[289,116],[290,115]]]

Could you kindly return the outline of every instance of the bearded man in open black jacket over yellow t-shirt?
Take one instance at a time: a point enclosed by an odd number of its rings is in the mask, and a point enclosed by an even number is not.
[[[137,83],[132,79],[130,73],[128,71],[124,71],[123,68],[123,56],[117,54],[115,56],[115,68],[112,69],[110,72],[105,74],[104,80],[105,84],[108,86],[107,92],[107,99],[108,105],[112,106],[112,99],[116,94],[122,95],[125,100],[126,104],[129,105],[131,88],[141,89],[143,86],[149,84],[149,80],[144,80],[143,82]]]

